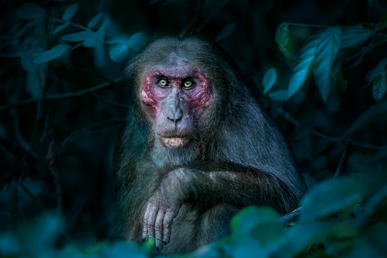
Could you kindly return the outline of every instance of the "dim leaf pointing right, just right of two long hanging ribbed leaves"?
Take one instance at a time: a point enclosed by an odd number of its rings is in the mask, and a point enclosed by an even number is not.
[[[359,27],[359,29],[343,30],[340,49],[350,46],[359,46],[364,43],[368,38],[376,34],[376,32],[363,28],[361,25],[358,25],[357,27]]]

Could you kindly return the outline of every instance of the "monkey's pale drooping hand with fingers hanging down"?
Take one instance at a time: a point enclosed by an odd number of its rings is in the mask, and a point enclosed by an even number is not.
[[[152,249],[156,248],[158,252],[170,242],[173,218],[177,216],[187,197],[185,192],[188,189],[184,187],[187,178],[183,179],[183,175],[183,169],[170,172],[161,181],[146,206],[142,241],[155,238],[155,246]]]

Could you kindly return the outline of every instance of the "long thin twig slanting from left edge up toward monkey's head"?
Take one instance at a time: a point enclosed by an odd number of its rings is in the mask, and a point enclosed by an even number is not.
[[[120,81],[121,81],[121,78],[117,78],[117,79],[113,80],[114,83],[118,83]],[[73,91],[73,92],[68,92],[68,93],[62,93],[62,94],[48,95],[48,96],[45,96],[42,99],[42,101],[59,100],[59,99],[66,99],[66,98],[72,98],[72,97],[78,97],[78,96],[82,96],[82,95],[87,95],[87,94],[90,94],[90,93],[95,92],[97,90],[107,88],[109,86],[112,86],[112,83],[105,82],[105,83],[93,86],[91,88],[88,88],[88,89],[83,89],[83,90]],[[39,98],[26,99],[26,100],[20,101],[18,103],[13,103],[13,104],[8,104],[8,105],[0,106],[0,111],[1,110],[7,110],[7,109],[10,109],[10,108],[14,108],[14,107],[23,106],[23,105],[26,105],[26,104],[35,103],[35,102],[38,102],[38,101],[39,101]]]

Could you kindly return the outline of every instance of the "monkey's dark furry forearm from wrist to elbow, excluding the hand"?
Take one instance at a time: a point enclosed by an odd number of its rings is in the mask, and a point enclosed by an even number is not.
[[[229,203],[238,207],[273,206],[280,213],[296,209],[300,196],[276,176],[233,164],[212,163],[174,170],[173,177],[189,200],[201,206]],[[174,187],[171,187],[174,188]]]

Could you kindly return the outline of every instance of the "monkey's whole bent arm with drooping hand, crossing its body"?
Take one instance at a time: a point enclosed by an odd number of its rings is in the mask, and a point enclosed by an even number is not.
[[[171,168],[157,184],[144,215],[142,237],[156,238],[162,250],[171,236],[173,218],[184,202],[202,207],[228,203],[237,207],[271,206],[281,213],[297,208],[301,193],[277,176],[232,163],[198,163]]]

